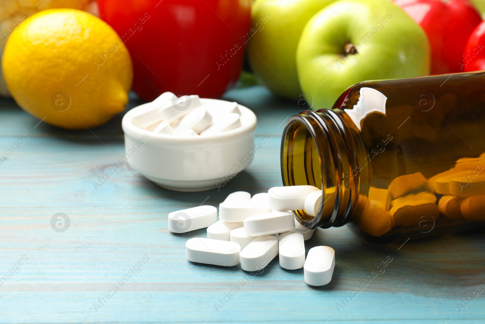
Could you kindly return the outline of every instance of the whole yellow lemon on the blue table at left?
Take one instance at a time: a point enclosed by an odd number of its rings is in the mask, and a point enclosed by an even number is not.
[[[85,129],[123,111],[133,79],[129,52],[99,18],[39,12],[7,40],[5,83],[22,109],[51,125]]]

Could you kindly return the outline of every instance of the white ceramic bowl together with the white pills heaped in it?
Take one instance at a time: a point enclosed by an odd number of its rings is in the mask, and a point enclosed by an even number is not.
[[[224,186],[254,158],[256,115],[237,102],[165,92],[123,117],[129,166],[162,188]]]

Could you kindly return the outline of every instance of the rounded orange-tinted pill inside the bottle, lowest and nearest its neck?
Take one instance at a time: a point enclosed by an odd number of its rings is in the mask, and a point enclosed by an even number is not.
[[[361,229],[372,236],[381,236],[394,226],[394,219],[388,211],[370,205],[365,196],[361,196],[360,200],[365,204],[358,218]]]

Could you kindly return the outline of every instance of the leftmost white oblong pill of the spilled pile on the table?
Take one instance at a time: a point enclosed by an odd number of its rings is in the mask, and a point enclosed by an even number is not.
[[[215,222],[217,222],[217,208],[214,206],[198,206],[168,214],[168,230],[173,233],[194,231],[209,227]]]

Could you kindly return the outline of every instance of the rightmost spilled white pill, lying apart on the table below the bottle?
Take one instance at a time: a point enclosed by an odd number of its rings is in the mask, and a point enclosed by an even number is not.
[[[308,251],[303,273],[311,286],[323,286],[332,280],[335,268],[335,251],[329,246],[315,246]]]

